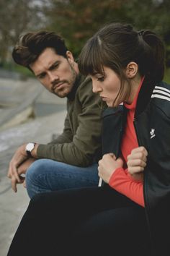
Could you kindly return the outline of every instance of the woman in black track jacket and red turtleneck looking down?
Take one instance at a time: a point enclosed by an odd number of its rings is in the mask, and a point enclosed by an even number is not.
[[[164,46],[151,31],[112,23],[79,56],[107,103],[98,188],[30,201],[9,254],[168,256],[170,91]],[[24,252],[24,253],[23,253]]]

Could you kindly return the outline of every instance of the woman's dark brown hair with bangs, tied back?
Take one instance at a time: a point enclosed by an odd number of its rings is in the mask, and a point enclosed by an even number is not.
[[[138,32],[131,25],[111,23],[102,27],[90,38],[79,56],[79,70],[82,74],[104,75],[103,67],[109,67],[123,81],[127,80],[123,70],[130,61],[138,64],[141,76],[156,82],[164,77],[164,43],[149,31]],[[130,90],[130,89],[129,89]],[[130,93],[130,91],[129,91]]]

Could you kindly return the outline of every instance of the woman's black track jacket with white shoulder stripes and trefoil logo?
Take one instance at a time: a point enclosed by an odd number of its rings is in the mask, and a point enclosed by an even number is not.
[[[120,155],[126,108],[103,114],[103,153]],[[143,81],[134,119],[138,145],[148,150],[144,170],[146,218],[153,256],[170,255],[170,85]],[[143,255],[144,256],[144,255]]]

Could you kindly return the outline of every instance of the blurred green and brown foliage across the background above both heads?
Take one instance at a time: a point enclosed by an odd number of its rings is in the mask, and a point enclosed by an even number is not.
[[[0,61],[10,59],[19,35],[28,30],[54,30],[78,57],[86,40],[99,27],[108,22],[125,22],[161,35],[170,67],[169,9],[169,0],[1,0]]]

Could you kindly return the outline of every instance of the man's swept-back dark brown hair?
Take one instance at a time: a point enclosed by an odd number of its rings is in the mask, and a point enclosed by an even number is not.
[[[19,38],[19,42],[12,51],[14,61],[30,69],[30,64],[35,62],[45,48],[53,48],[56,54],[66,58],[66,45],[61,36],[54,32],[30,32]]]

